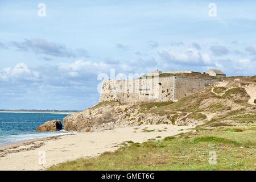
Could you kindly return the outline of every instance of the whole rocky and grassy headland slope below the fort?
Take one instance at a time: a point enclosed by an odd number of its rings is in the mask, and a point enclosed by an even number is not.
[[[205,127],[255,124],[255,104],[251,102],[255,90],[252,82],[217,82],[177,102],[127,106],[105,101],[65,117],[63,126],[66,131],[88,132],[163,123]]]

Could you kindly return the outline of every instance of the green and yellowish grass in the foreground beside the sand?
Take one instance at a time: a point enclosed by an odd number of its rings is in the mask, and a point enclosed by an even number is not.
[[[222,127],[130,143],[114,152],[69,161],[48,170],[255,170],[255,129]],[[211,151],[216,152],[217,164],[208,162]]]

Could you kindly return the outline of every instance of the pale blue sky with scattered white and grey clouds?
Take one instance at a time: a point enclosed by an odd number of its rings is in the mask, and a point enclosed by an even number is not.
[[[1,0],[0,109],[84,110],[110,69],[256,75],[255,9],[236,0]]]

